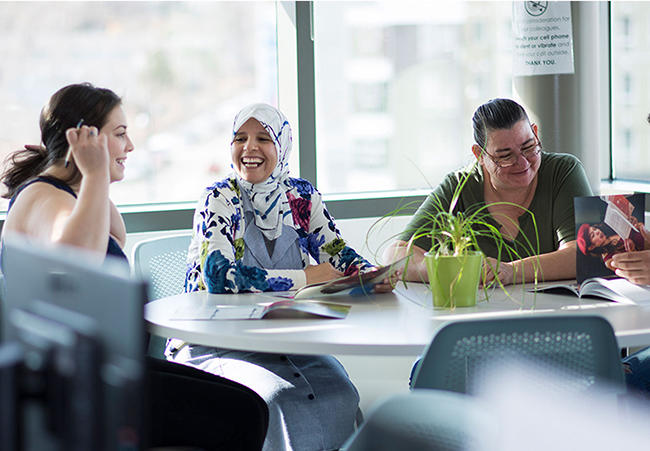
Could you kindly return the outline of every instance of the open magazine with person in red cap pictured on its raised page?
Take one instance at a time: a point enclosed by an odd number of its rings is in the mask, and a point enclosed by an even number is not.
[[[533,290],[650,305],[650,288],[616,277],[608,266],[615,254],[644,249],[645,194],[576,197],[573,204],[576,280],[542,283]]]

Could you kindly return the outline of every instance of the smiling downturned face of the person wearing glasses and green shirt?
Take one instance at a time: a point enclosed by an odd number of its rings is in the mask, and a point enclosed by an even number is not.
[[[537,141],[537,126],[530,124],[527,119],[517,122],[512,128],[490,130],[487,135],[485,152],[492,158],[481,155],[481,148],[474,146],[474,155],[479,158],[484,171],[489,174],[490,181],[496,189],[526,188],[537,175],[542,161],[541,154],[529,153],[524,156],[521,152]],[[512,166],[499,167],[493,159],[499,160],[508,155],[516,156]]]

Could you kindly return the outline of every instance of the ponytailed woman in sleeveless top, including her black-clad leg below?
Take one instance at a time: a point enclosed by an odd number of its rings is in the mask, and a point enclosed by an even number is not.
[[[124,259],[124,221],[109,185],[124,178],[134,146],[121,99],[88,83],[57,91],[41,111],[41,145],[7,159],[10,198],[2,234],[60,243]],[[236,382],[149,358],[149,446],[259,450],[268,408]],[[80,427],[83,427],[80,425]]]

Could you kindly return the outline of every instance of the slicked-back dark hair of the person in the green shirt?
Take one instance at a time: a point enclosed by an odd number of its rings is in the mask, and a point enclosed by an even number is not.
[[[522,119],[530,122],[526,110],[517,102],[510,99],[492,99],[474,112],[474,141],[485,149],[489,131],[512,128]]]

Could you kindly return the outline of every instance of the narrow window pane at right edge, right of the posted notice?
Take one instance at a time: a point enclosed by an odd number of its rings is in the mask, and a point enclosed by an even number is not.
[[[614,177],[650,181],[650,4],[611,2]]]

